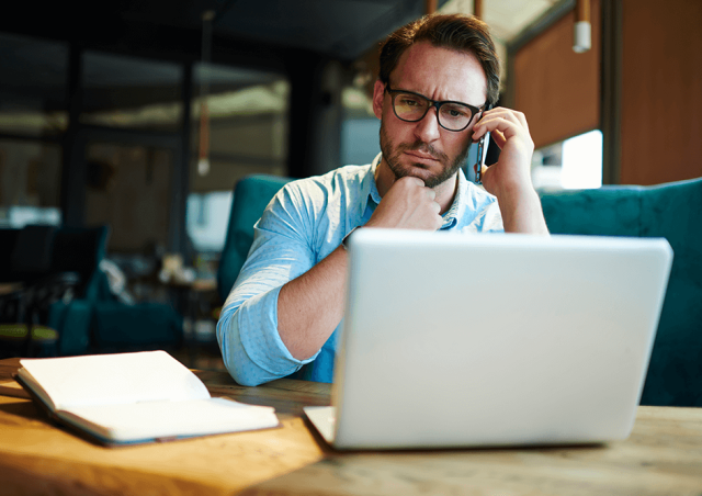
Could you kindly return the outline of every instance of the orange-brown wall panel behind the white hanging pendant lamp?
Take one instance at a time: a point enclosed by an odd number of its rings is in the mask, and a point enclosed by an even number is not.
[[[514,55],[514,108],[526,115],[536,148],[600,126],[600,0],[592,0],[592,48],[573,52],[575,11]]]

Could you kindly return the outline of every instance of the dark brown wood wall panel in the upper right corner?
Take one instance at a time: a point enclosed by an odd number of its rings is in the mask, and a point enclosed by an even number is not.
[[[702,176],[702,1],[623,0],[623,184]]]

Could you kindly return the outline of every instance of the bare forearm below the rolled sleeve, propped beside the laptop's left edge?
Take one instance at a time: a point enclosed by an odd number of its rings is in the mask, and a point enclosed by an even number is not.
[[[348,255],[342,247],[281,289],[278,331],[297,360],[314,356],[343,317]]]

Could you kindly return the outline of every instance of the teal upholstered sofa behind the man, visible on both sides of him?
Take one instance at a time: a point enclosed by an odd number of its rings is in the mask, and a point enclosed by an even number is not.
[[[217,273],[223,301],[246,260],[253,224],[288,181],[251,176],[236,184]],[[544,192],[541,200],[553,234],[668,239],[675,259],[642,404],[702,406],[702,179]]]

